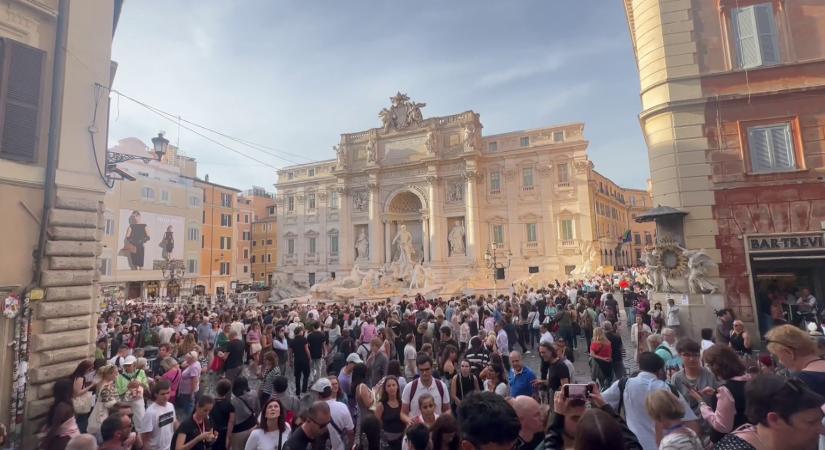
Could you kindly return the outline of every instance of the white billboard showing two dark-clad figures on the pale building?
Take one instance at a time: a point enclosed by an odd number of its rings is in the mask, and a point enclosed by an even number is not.
[[[183,259],[183,217],[121,209],[119,225],[119,270],[154,270],[164,260]]]

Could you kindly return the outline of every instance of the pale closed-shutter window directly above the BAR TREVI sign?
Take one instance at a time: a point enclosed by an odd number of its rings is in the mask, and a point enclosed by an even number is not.
[[[748,151],[754,173],[796,169],[790,124],[748,128]]]

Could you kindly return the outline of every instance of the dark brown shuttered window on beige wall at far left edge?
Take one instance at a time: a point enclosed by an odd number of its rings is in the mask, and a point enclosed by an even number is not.
[[[45,52],[0,39],[0,158],[37,160]]]

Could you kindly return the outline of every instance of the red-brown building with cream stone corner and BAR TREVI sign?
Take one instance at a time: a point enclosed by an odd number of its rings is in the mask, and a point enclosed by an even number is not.
[[[823,298],[822,2],[625,0],[625,8],[654,202],[686,212],[685,246],[719,263],[723,302],[712,306],[755,325],[773,290],[810,287]]]

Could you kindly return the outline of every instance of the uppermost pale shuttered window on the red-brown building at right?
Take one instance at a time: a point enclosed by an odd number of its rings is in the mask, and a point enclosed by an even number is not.
[[[779,64],[779,40],[771,3],[733,9],[731,25],[740,69]]]

